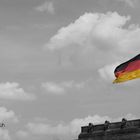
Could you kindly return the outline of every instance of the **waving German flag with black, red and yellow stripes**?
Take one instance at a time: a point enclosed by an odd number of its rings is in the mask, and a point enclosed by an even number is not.
[[[116,79],[113,83],[140,78],[140,54],[117,66],[114,70],[114,74]]]

